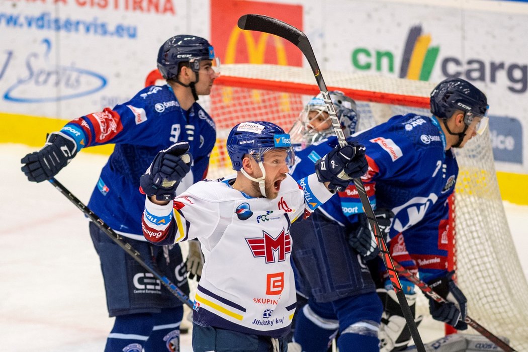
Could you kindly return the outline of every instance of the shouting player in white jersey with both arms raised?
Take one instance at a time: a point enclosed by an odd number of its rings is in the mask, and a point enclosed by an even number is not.
[[[290,136],[274,123],[240,123],[227,148],[236,175],[196,183],[172,202],[154,195],[163,179],[178,181],[167,177],[176,174],[177,163],[163,160],[167,152],[154,159],[141,182],[147,194],[143,233],[158,245],[201,242],[195,352],[286,351],[296,306],[289,227],[365,174],[365,150],[355,142],[336,146],[317,161],[315,173],[296,181],[288,174]]]

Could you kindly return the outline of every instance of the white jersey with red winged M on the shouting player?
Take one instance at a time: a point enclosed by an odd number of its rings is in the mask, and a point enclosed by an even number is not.
[[[290,330],[296,305],[290,224],[332,193],[315,174],[298,182],[287,175],[275,199],[250,197],[233,181],[198,182],[164,206],[147,199],[143,234],[158,245],[200,240],[205,264],[196,324],[279,338]]]

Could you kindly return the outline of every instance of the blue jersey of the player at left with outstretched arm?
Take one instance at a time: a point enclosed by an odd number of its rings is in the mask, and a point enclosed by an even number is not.
[[[115,144],[88,207],[116,232],[140,241],[145,241],[141,227],[145,196],[139,192],[139,177],[158,151],[188,141],[193,167],[180,191],[205,178],[216,140],[208,113],[196,102],[183,110],[169,85],[147,87],[113,109],[70,121],[61,131],[76,140],[78,150]]]

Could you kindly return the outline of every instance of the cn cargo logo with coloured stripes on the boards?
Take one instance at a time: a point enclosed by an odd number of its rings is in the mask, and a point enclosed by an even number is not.
[[[428,81],[438,61],[445,78],[464,78],[470,82],[497,83],[506,80],[506,88],[517,94],[528,89],[528,64],[504,61],[484,61],[479,58],[462,60],[455,56],[439,58],[439,46],[429,46],[430,34],[422,34],[420,25],[411,27],[403,48],[399,77]],[[358,47],[352,51],[352,65],[362,71],[394,72],[394,53]],[[511,84],[507,84],[507,83]]]

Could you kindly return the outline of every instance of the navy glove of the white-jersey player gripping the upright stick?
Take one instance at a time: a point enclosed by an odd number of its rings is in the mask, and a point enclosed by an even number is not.
[[[365,146],[348,141],[339,145],[315,163],[315,173],[319,182],[329,182],[328,188],[341,192],[352,178],[363,176],[369,169],[365,158]]]

